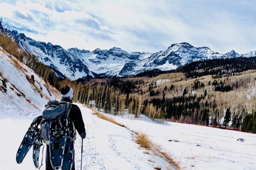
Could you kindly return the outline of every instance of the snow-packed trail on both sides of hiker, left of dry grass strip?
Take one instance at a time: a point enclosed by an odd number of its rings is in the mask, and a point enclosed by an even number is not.
[[[87,137],[84,139],[83,170],[150,170],[154,164],[149,162],[148,154],[132,140],[132,133],[118,125],[98,118],[92,110],[77,104],[85,122]],[[34,116],[40,115],[40,111]],[[1,170],[36,170],[32,161],[32,149],[21,164],[16,163],[16,151],[34,116],[9,117],[0,119]],[[45,157],[44,149],[44,157]],[[42,147],[39,161],[42,158]],[[75,141],[76,170],[80,169],[81,138]],[[45,169],[45,158],[41,170]]]

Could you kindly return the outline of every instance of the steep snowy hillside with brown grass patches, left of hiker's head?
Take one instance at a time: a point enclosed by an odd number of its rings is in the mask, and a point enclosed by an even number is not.
[[[16,61],[16,62],[14,62]],[[34,85],[27,77],[34,75]],[[0,47],[0,118],[11,115],[34,115],[58,92],[33,70]]]

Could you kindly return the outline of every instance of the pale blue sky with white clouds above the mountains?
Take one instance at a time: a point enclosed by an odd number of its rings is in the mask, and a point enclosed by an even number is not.
[[[254,0],[0,0],[4,24],[65,49],[157,52],[188,42],[226,53],[256,50]]]

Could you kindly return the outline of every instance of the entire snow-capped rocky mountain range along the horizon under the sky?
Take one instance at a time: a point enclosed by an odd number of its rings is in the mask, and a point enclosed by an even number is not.
[[[72,80],[86,76],[129,76],[153,70],[172,70],[186,63],[204,59],[229,57],[254,57],[256,51],[238,54],[234,50],[220,54],[208,47],[194,47],[189,43],[172,44],[165,51],[157,53],[132,52],[120,48],[109,50],[63,49],[59,45],[35,41],[15,30],[8,34],[17,41],[21,48],[35,55],[39,61],[50,66],[59,78]]]

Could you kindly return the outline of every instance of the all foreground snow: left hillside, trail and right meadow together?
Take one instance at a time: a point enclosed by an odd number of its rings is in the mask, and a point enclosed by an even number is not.
[[[34,117],[41,115],[47,98],[58,98],[54,88],[26,65],[20,63],[20,66],[22,70],[0,49],[0,86],[6,86],[7,90],[0,91],[0,145],[3,146],[0,154],[1,170],[36,169],[32,161],[32,149],[22,164],[16,163],[16,152]],[[31,74],[34,75],[35,86],[42,88],[43,97],[26,79],[26,75]],[[24,94],[25,97],[18,94]],[[167,163],[164,160],[152,154],[145,154],[146,150],[134,142],[134,133],[99,119],[93,115],[92,110],[81,104],[77,105],[82,111],[89,138],[84,140],[82,169],[148,170],[155,166],[166,169]],[[164,152],[170,152],[174,160],[180,161],[182,169],[256,169],[256,134],[182,123],[157,124],[144,115],[141,115],[140,119],[128,119],[126,115],[123,117],[114,116],[116,121],[130,130],[146,133]],[[244,142],[236,141],[239,138],[243,138]],[[80,169],[80,149],[81,139],[77,135],[76,169]],[[43,164],[44,162],[45,160]],[[42,169],[45,169],[44,165]]]

